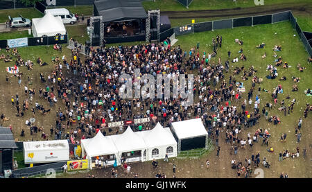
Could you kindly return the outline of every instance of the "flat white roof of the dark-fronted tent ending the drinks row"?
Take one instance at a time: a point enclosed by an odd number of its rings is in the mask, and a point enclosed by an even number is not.
[[[208,134],[200,118],[174,122],[172,123],[172,127],[179,139],[200,137]]]

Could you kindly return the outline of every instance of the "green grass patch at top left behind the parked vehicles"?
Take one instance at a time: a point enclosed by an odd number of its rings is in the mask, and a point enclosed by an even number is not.
[[[43,16],[42,13],[35,8],[0,10],[0,23],[8,21],[8,15],[10,15],[11,17],[19,17],[19,15],[21,15],[28,19],[40,18]]]

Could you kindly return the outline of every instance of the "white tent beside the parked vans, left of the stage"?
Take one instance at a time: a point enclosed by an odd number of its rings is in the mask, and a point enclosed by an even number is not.
[[[51,13],[46,13],[42,18],[33,18],[32,26],[33,37],[42,37],[42,35],[55,36],[60,33],[66,35],[66,29],[60,17],[54,17]]]

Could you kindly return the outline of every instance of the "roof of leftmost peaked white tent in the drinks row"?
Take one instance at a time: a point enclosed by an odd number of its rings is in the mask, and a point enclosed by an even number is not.
[[[89,157],[116,154],[118,150],[110,137],[104,137],[99,131],[92,139],[81,140]]]

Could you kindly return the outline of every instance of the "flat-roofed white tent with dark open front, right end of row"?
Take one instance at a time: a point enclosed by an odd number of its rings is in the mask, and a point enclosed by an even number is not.
[[[202,119],[189,119],[171,123],[173,136],[178,142],[178,151],[207,148],[208,132]]]

